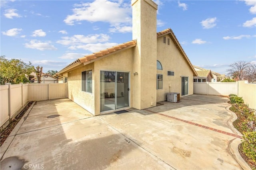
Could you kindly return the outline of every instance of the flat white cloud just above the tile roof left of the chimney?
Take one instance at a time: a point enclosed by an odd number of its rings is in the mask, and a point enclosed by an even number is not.
[[[76,50],[76,49],[84,49],[91,51],[92,53],[104,50],[110,47],[113,47],[117,45],[117,43],[96,43],[96,44],[86,44],[86,45],[76,45],[76,46],[71,46],[68,49]]]

